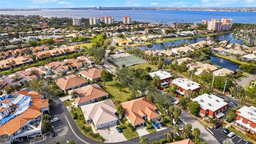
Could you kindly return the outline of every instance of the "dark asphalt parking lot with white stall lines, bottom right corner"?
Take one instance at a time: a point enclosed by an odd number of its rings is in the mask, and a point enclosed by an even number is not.
[[[216,129],[216,128],[210,128],[209,130],[211,131],[210,133],[213,133],[212,135],[222,144],[222,142],[224,141],[224,140],[226,140],[227,138],[229,138],[228,136],[226,136],[226,135],[224,135],[224,134],[222,134],[221,132],[223,131],[223,130],[225,130],[226,128],[224,128],[224,127],[220,127],[220,128],[218,128],[218,129]],[[240,136],[238,136],[238,135],[234,135],[234,136],[232,136],[231,137],[231,139],[233,140],[233,142],[235,143],[235,144],[247,144],[247,140],[245,140],[245,139],[243,139],[243,138],[241,138]]]

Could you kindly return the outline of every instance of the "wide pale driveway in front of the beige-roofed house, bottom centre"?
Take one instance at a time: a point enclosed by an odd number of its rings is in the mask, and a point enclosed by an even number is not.
[[[119,133],[116,130],[117,125],[113,124],[108,126],[110,131],[108,131],[107,127],[98,129],[99,134],[105,139],[106,143],[112,142],[123,142],[127,139],[124,137],[123,133]]]

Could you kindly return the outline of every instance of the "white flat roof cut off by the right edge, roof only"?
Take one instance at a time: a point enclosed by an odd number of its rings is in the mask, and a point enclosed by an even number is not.
[[[254,106],[243,106],[239,110],[237,110],[238,115],[247,118],[248,120],[251,120],[252,122],[256,123],[256,107]]]

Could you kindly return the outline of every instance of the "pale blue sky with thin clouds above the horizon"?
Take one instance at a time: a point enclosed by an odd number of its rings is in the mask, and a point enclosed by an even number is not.
[[[256,7],[256,0],[0,0],[0,8]]]

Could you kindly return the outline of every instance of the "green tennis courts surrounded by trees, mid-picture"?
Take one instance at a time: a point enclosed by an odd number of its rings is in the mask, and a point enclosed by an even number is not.
[[[119,67],[122,67],[124,64],[125,66],[133,66],[136,64],[142,64],[146,62],[145,60],[142,60],[140,58],[136,58],[135,56],[128,56],[128,57],[122,57],[122,58],[116,58],[114,60],[111,60]]]

